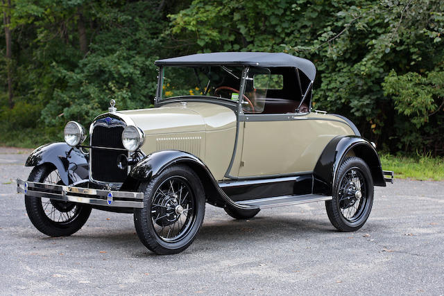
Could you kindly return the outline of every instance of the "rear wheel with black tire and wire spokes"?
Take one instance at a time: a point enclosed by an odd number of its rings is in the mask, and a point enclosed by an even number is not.
[[[341,232],[361,228],[373,206],[373,178],[359,157],[345,159],[333,186],[333,199],[325,202],[330,222]]]

